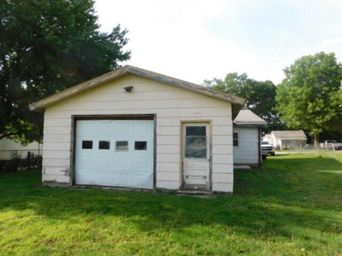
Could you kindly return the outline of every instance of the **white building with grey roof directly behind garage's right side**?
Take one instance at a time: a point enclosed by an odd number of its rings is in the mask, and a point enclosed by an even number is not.
[[[240,110],[233,122],[233,162],[261,165],[261,128],[267,122],[250,110]]]

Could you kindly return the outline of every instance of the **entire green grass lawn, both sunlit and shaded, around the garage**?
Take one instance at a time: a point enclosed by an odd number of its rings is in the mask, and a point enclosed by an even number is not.
[[[0,174],[0,255],[341,255],[342,163],[269,157],[218,198],[41,187]]]

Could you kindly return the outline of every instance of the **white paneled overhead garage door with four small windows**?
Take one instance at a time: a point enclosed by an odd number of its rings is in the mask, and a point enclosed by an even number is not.
[[[76,185],[153,189],[153,120],[79,120]]]

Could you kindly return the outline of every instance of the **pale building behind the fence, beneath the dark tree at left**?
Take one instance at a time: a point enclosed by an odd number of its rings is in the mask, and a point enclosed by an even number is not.
[[[15,142],[14,140],[3,138],[0,140],[0,160],[9,160],[12,158],[13,153],[21,158],[27,157],[27,152],[34,153],[36,155],[41,155],[42,144],[38,142],[32,142],[30,144],[22,145],[20,142]]]

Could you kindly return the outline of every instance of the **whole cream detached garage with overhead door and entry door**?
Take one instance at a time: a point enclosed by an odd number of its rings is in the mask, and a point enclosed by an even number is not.
[[[124,66],[30,104],[44,111],[51,186],[233,191],[245,99]]]

